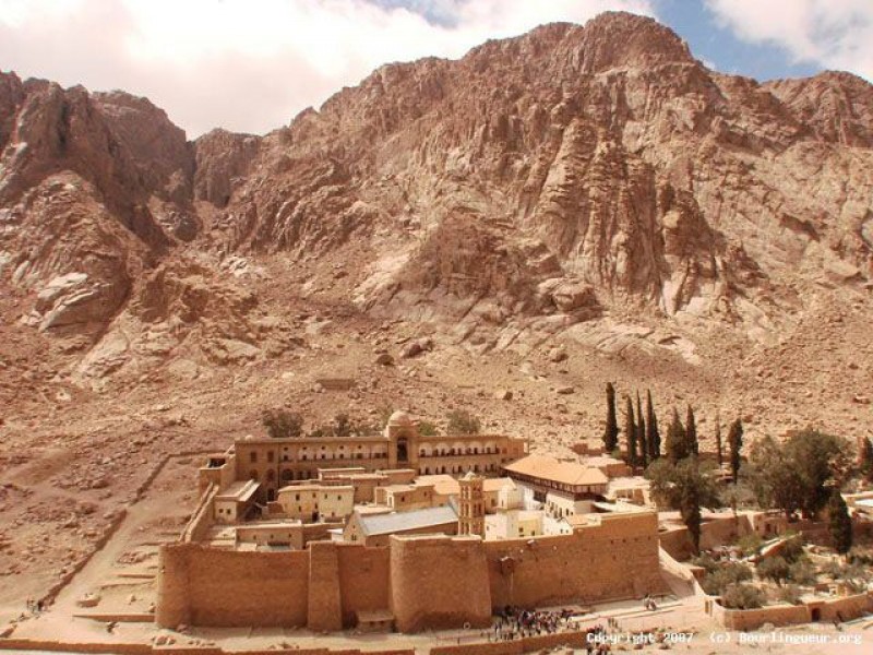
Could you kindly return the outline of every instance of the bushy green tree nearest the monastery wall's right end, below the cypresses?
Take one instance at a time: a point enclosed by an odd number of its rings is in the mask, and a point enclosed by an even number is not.
[[[658,505],[679,510],[689,528],[695,551],[701,541],[701,508],[719,503],[715,480],[697,465],[696,457],[685,457],[673,464],[669,458],[649,464],[646,477]]]

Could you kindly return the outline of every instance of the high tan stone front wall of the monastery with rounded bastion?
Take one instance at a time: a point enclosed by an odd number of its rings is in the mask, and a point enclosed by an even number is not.
[[[402,632],[488,626],[492,609],[642,597],[666,591],[654,513],[603,515],[572,535],[482,541],[393,536],[387,547],[313,541],[306,550],[163,546],[155,621],[340,630],[393,612]]]

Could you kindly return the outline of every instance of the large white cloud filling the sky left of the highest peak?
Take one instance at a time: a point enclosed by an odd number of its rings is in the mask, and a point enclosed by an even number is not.
[[[145,95],[191,135],[264,132],[385,62],[456,58],[610,9],[654,13],[653,0],[431,2],[452,21],[375,0],[0,0],[0,66]]]

